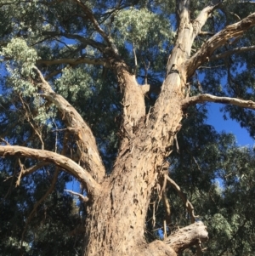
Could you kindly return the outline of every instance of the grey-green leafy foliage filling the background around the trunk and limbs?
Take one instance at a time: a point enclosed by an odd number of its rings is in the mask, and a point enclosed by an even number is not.
[[[210,1],[191,1],[191,17]],[[222,8],[208,20],[205,30],[213,33],[225,25],[246,17],[254,10],[247,3],[240,8],[240,1],[224,1]],[[242,1],[244,2],[244,1]],[[173,1],[120,1],[114,8],[113,1],[86,1],[94,11],[99,24],[116,43],[119,53],[127,63],[137,68],[139,82],[159,89],[164,79],[167,56],[173,48],[177,20]],[[74,1],[0,1],[1,35],[1,88],[0,88],[0,136],[14,145],[42,148],[61,152],[76,159],[77,145],[72,134],[64,145],[65,122],[54,105],[41,97],[34,65],[37,65],[54,91],[65,97],[88,122],[98,143],[107,173],[114,165],[119,145],[119,126],[122,122],[121,91],[117,88],[116,74],[109,66],[88,65],[68,60],[111,58],[102,53],[105,39],[94,31]],[[245,39],[229,42],[219,48],[217,54],[235,47],[252,46],[254,29]],[[79,36],[79,37],[78,37]],[[79,40],[86,37],[95,45]],[[194,52],[205,38],[199,36],[193,45]],[[254,52],[233,54],[213,60],[190,79],[192,95],[200,94],[202,84],[205,93],[254,100]],[[134,58],[138,59],[135,66]],[[63,60],[46,65],[40,60]],[[148,68],[150,67],[150,68]],[[4,97],[2,96],[4,95]],[[146,98],[148,110],[157,99],[152,92]],[[241,123],[254,138],[254,113],[235,106],[223,108],[224,117]],[[190,108],[182,123],[173,154],[170,175],[183,189],[195,207],[198,219],[203,220],[210,231],[205,255],[252,255],[255,252],[254,203],[254,150],[239,147],[232,134],[219,134],[207,125],[207,106]],[[76,159],[78,162],[78,160]],[[42,167],[37,173],[26,176],[15,186],[22,165],[31,168],[35,162],[20,157],[20,162],[1,159],[0,172],[0,254],[20,253],[20,241],[25,230],[23,247],[26,255],[77,255],[82,250],[82,235],[70,236],[71,230],[83,223],[86,212],[65,191],[66,183],[74,180],[60,171],[54,191],[37,208],[26,227],[26,220],[34,205],[48,191],[54,177],[52,166]],[[6,193],[6,191],[8,191]],[[85,194],[85,193],[84,193]],[[176,191],[169,188],[167,197],[171,203],[172,223],[168,233],[178,226],[190,224],[190,215]],[[151,208],[146,222],[146,236],[152,240],[161,237],[164,208],[158,195],[157,220],[151,224]],[[186,250],[184,255],[195,252]]]

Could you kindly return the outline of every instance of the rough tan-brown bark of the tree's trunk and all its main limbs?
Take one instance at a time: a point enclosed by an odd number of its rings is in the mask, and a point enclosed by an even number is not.
[[[79,0],[74,0],[74,2],[88,15],[88,20],[111,48],[113,58],[107,65],[111,65],[111,68],[116,71],[117,81],[123,94],[122,138],[111,175],[105,176],[105,168],[94,136],[86,122],[63,97],[54,93],[37,68],[35,69],[42,81],[40,84],[42,97],[57,106],[67,129],[76,136],[81,166],[54,152],[20,146],[0,146],[0,156],[26,156],[43,162],[53,162],[82,181],[88,189],[88,200],[87,198],[85,200],[88,215],[85,224],[84,256],[135,254],[176,256],[184,248],[207,240],[207,230],[201,222],[178,230],[165,241],[151,243],[144,239],[144,225],[151,191],[161,175],[166,157],[172,151],[174,137],[181,128],[180,122],[183,118],[184,107],[205,100],[215,102],[224,100],[224,103],[252,106],[252,108],[254,104],[240,100],[215,99],[208,95],[189,98],[187,79],[201,63],[209,60],[216,48],[224,45],[230,37],[240,36],[243,31],[253,26],[255,14],[226,27],[209,39],[190,58],[195,37],[201,32],[201,27],[204,26],[217,5],[203,9],[195,20],[190,20],[190,1],[176,1],[178,36],[167,62],[167,74],[162,83],[161,94],[153,109],[146,114],[144,94],[148,86],[139,85],[127,64],[121,60],[115,45],[101,29],[94,14],[85,3]],[[44,33],[47,34],[47,32]],[[48,32],[48,35],[50,34],[53,32]],[[80,42],[83,40],[77,35],[59,34],[59,36],[76,38]],[[106,48],[103,43],[96,43],[90,39],[84,40],[100,51]],[[41,63],[43,61],[44,64],[48,63],[46,60],[41,60]],[[83,61],[87,63],[91,61],[92,64],[103,63],[94,62],[96,60],[84,59]],[[56,62],[52,62],[54,63]]]

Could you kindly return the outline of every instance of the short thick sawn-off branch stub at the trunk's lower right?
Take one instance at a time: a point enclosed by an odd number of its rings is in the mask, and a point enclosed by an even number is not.
[[[173,235],[167,236],[164,242],[172,247],[176,253],[179,253],[197,242],[205,242],[207,239],[207,227],[199,221],[178,230]]]

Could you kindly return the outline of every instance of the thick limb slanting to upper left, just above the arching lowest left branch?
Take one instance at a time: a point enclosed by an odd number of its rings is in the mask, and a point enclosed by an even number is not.
[[[105,167],[99,156],[99,151],[91,129],[88,127],[87,123],[84,122],[77,110],[70,105],[65,98],[54,93],[54,90],[42,76],[41,71],[39,71],[36,66],[34,66],[34,69],[37,71],[42,81],[40,88],[43,94],[40,95],[56,105],[59,112],[62,113],[62,119],[65,121],[68,130],[72,134],[75,134],[80,164],[83,168],[88,168],[89,173],[93,175],[94,179],[98,182],[102,182],[105,177]]]

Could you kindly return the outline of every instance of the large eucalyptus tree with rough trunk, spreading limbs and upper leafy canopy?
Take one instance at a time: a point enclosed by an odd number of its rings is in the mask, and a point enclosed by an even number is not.
[[[224,111],[253,134],[254,3],[1,0],[0,6],[0,155],[3,166],[18,159],[17,185],[48,165],[55,167],[53,185],[60,171],[81,182],[83,255],[177,255],[195,244],[201,253],[206,226],[195,222],[194,208],[168,177],[167,157],[196,104],[228,104]],[[167,181],[186,203],[191,225],[146,241],[150,198],[155,188],[162,196]]]

